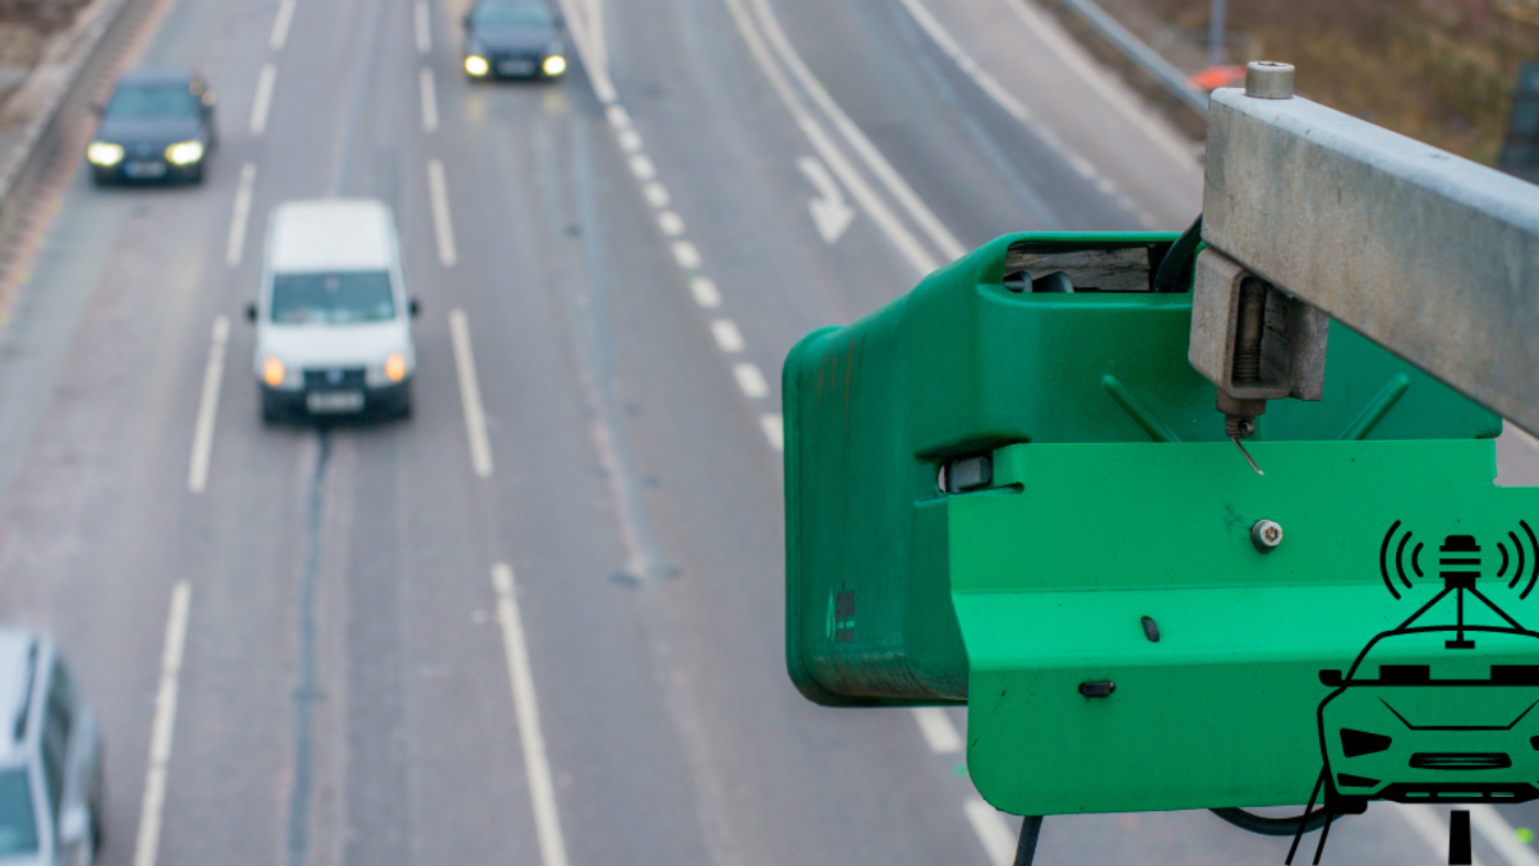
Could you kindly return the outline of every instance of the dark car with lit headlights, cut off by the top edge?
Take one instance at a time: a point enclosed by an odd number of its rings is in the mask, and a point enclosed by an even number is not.
[[[465,15],[471,78],[559,78],[566,72],[562,17],[542,0],[480,0]]]

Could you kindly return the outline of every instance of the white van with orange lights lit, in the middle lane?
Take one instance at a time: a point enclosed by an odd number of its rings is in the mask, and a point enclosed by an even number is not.
[[[252,365],[262,418],[411,414],[417,351],[396,220],[382,202],[317,198],[272,211]]]

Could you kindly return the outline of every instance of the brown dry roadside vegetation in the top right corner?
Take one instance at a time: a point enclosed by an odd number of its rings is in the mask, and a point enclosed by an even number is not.
[[[1170,54],[1173,28],[1207,26],[1210,0],[1102,5]],[[1228,28],[1297,66],[1302,94],[1484,163],[1507,135],[1519,65],[1539,58],[1539,0],[1228,0]]]

